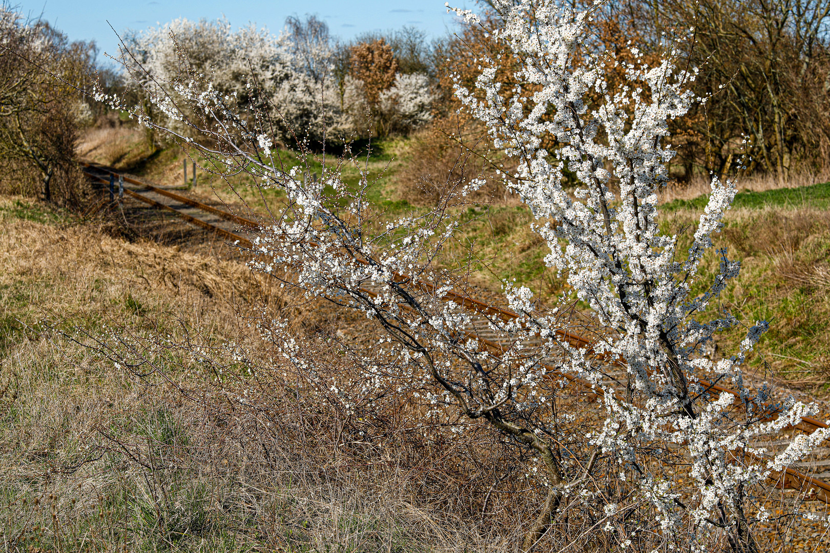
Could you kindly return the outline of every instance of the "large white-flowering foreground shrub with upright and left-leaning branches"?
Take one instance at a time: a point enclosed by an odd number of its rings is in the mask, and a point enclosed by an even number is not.
[[[447,187],[432,211],[387,220],[367,197],[365,173],[355,189],[339,164],[325,166],[316,180],[302,178],[303,167],[278,163],[256,101],[243,116],[220,92],[182,85],[178,94],[213,121],[209,128],[193,124],[217,144],[206,153],[228,173],[247,172],[261,187],[285,192],[281,211],[256,237],[252,266],[305,297],[364,313],[378,341],[366,352],[344,344],[341,354],[358,369],[322,376],[278,314],[264,313],[263,336],[355,413],[390,394],[408,395],[413,413],[434,423],[432,434],[463,433],[465,420],[481,421],[529,452],[524,478],[544,496],[525,550],[546,533],[563,546],[595,549],[589,536],[601,529],[610,548],[758,551],[753,527],[771,515],[769,474],[827,433],[793,439],[774,457],[754,446],[809,412],[793,400],[767,405],[768,387],[744,381],[741,366],[766,322],[747,329],[732,357],[701,355],[715,332],[739,324],[715,301],[740,271],[725,250],[717,252],[720,272],[706,291],[693,293],[704,284],[701,259],[735,185],[713,180],[687,250],[679,235],[661,230],[657,196],[674,155],[667,122],[696,101],[687,90],[696,70],[683,68],[676,44],[666,41],[659,63],[627,63],[625,81],[612,90],[605,78],[611,54],[585,44],[590,9],[553,0],[492,3],[502,50],[477,60],[478,90],[459,83],[456,93],[486,124],[494,146],[518,163],[505,186],[530,207],[532,230],[550,250],[544,263],[567,276],[597,318],[593,346],[569,338],[565,298],[558,308],[538,308],[519,284],[505,286],[515,316],[462,308],[470,302],[452,290],[466,287],[469,265],[447,260],[445,246],[463,231],[460,208],[480,179]],[[474,13],[456,12],[477,24]],[[509,100],[496,71],[506,60],[518,68]],[[403,90],[403,80],[398,85]],[[523,85],[535,93],[520,94]],[[544,136],[561,147],[545,150]],[[579,180],[571,193],[562,184],[566,171]],[[616,360],[621,373],[603,360]],[[740,400],[713,394],[711,381],[729,382]],[[586,394],[599,404],[580,402]],[[584,533],[571,535],[574,524]]]

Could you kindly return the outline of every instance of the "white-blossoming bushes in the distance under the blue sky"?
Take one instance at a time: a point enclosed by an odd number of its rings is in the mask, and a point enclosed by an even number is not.
[[[362,84],[349,75],[342,83],[334,78],[330,41],[306,41],[300,52],[292,38],[288,28],[273,36],[253,25],[234,30],[227,20],[179,18],[127,36],[121,57],[134,85],[149,95],[159,97],[177,85],[191,89],[189,81],[196,74],[244,104],[253,78],[261,99],[273,109],[275,138],[348,137],[365,118]],[[393,88],[383,93],[384,116],[394,119],[399,129],[417,129],[430,118],[430,88],[427,75],[397,75]],[[171,117],[166,123],[183,131],[175,121]]]

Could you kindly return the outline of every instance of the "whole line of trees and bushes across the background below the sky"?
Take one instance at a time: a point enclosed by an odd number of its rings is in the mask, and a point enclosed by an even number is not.
[[[682,38],[677,46],[686,63],[699,68],[691,88],[706,101],[671,121],[672,177],[688,182],[746,167],[786,182],[793,172],[827,167],[828,14],[830,0],[610,0],[593,8],[593,35],[583,48],[586,56],[605,56],[622,83],[626,64],[655,61],[666,37]],[[175,110],[160,108],[164,102],[152,95],[173,106],[182,87],[221,90],[228,107],[266,106],[259,113],[291,148],[417,131],[402,182],[429,196],[440,192],[430,188],[432,173],[445,182],[447,173],[468,180],[485,169],[479,154],[490,148],[489,138],[481,123],[459,114],[453,91],[457,84],[472,90],[481,60],[502,55],[493,35],[501,21],[485,10],[481,24],[459,25],[434,41],[415,27],[342,41],[314,16],[289,17],[277,35],[234,29],[225,20],[178,19],[126,33],[121,67],[94,78],[100,92],[129,99],[159,120]],[[6,7],[0,46],[0,173],[10,176],[2,178],[3,190],[78,201],[80,188],[68,184],[78,131],[106,108],[71,85],[89,88],[95,45],[67,41],[48,23]],[[510,82],[523,61],[502,61]],[[534,90],[532,83],[512,83],[500,94]],[[198,134],[163,122],[185,139]],[[152,131],[148,139],[159,140]],[[540,139],[551,152],[561,146],[553,137]],[[751,161],[744,166],[738,159],[745,148]],[[458,163],[461,156],[465,163]],[[490,168],[510,171],[510,163]]]

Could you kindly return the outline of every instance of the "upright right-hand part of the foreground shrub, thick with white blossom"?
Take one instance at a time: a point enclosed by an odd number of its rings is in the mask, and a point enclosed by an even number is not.
[[[664,234],[657,220],[657,193],[666,185],[674,155],[666,142],[668,121],[686,114],[695,100],[686,83],[695,79],[696,69],[678,67],[677,45],[666,42],[659,64],[625,65],[626,82],[612,90],[604,68],[613,55],[583,47],[590,9],[580,12],[553,0],[494,0],[493,5],[504,22],[495,32],[504,49],[496,59],[480,60],[476,90],[457,84],[457,95],[486,124],[496,146],[520,161],[514,178],[505,183],[533,211],[538,221],[534,230],[550,249],[545,263],[567,274],[579,299],[615,331],[593,352],[623,360],[635,393],[598,386],[608,419],[592,442],[637,467],[641,498],[653,503],[666,531],[678,531],[683,517],[691,514],[701,532],[696,546],[706,551],[706,532],[715,529],[711,521],[720,520],[720,508],[728,506],[728,517],[740,517],[741,490],[764,482],[770,469],[786,464],[784,459],[808,454],[828,434],[817,431],[793,441],[787,453],[774,459],[761,461],[762,452],[754,452],[759,455],[734,462],[756,437],[797,423],[808,408],[777,405],[778,418],[764,421],[770,415],[760,407],[765,398],[745,387],[741,364],[767,329],[764,321],[749,328],[733,357],[713,362],[700,355],[701,344],[715,331],[737,323],[729,313],[706,321],[700,314],[706,308],[707,313],[717,310],[710,302],[738,276],[740,262],[720,251],[720,273],[706,293],[691,295],[701,280],[701,258],[735,196],[733,182],[713,178],[710,201],[688,251],[679,251],[678,236]],[[469,24],[478,21],[469,12],[457,13]],[[521,85],[515,85],[509,100],[502,94],[506,84],[496,78],[499,58],[520,65],[514,76]],[[522,87],[532,92],[522,94]],[[545,135],[560,147],[553,152],[541,148]],[[565,170],[579,179],[573,196],[562,184]],[[529,313],[530,321],[529,293],[509,299],[516,311]],[[556,336],[544,319],[533,321],[543,336]],[[563,346],[569,350],[570,371],[600,380],[583,352]],[[701,379],[730,382],[748,405],[745,412],[739,414],[734,398],[726,394],[701,402],[706,391]],[[688,508],[674,501],[681,492],[671,478],[657,478],[637,455],[636,444],[642,443],[686,444],[696,481]]]

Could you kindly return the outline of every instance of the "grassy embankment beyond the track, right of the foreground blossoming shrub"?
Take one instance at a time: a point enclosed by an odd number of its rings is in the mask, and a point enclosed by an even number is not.
[[[666,229],[691,224],[706,197],[666,205]],[[676,210],[676,211],[675,211]],[[685,242],[694,232],[686,230]],[[730,259],[741,260],[736,284],[721,296],[746,325],[769,322],[769,333],[749,365],[764,365],[791,386],[824,395],[830,380],[830,183],[740,192],[715,240]],[[707,256],[701,275],[712,276],[720,259]],[[721,353],[736,351],[745,328],[723,335]]]

